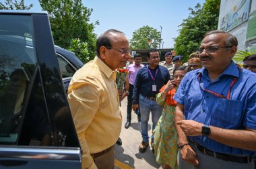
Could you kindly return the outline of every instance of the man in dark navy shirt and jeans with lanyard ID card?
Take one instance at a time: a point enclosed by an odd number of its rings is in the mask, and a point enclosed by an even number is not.
[[[133,110],[135,111],[139,107],[141,113],[142,142],[139,146],[139,152],[142,153],[148,147],[148,120],[150,118],[150,111],[153,122],[152,131],[162,115],[162,106],[156,103],[156,94],[170,80],[170,74],[167,68],[158,65],[160,60],[158,50],[150,50],[147,58],[150,64],[139,69],[133,89]],[[153,136],[151,138],[151,145],[154,145]],[[154,151],[153,147],[152,150]]]

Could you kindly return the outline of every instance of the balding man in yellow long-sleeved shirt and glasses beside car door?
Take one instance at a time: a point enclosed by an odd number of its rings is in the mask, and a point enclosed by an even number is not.
[[[96,42],[96,55],[73,75],[67,99],[83,168],[115,168],[113,145],[122,121],[116,69],[131,57],[129,42],[123,32],[108,30]]]

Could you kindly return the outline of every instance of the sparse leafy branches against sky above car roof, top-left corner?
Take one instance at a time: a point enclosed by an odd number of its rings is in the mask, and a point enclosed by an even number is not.
[[[15,0],[5,0],[5,5],[0,2],[0,9],[1,10],[29,10],[33,7],[33,4],[30,4],[28,6],[24,5],[24,0],[21,0],[18,2]]]

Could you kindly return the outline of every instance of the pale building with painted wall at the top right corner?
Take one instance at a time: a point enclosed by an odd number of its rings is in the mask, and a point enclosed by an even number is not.
[[[218,30],[236,36],[238,50],[256,48],[256,1],[222,0]]]

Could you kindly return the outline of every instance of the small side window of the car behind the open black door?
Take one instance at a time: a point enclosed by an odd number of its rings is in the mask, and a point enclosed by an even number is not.
[[[67,78],[73,76],[75,74],[75,68],[67,60],[63,58],[63,56],[57,54],[58,62],[59,62],[59,68],[61,70],[61,76],[62,78]]]

